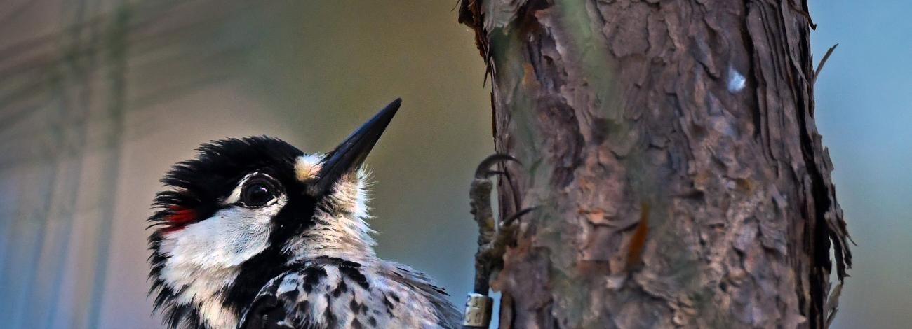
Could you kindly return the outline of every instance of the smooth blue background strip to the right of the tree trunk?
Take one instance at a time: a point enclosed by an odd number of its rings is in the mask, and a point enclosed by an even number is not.
[[[855,243],[837,328],[912,324],[912,2],[812,1],[817,127]]]

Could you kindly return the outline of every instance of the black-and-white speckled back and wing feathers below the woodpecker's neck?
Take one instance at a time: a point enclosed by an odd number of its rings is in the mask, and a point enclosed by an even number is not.
[[[322,257],[275,277],[244,311],[243,329],[454,328],[459,314],[423,274],[386,262]]]

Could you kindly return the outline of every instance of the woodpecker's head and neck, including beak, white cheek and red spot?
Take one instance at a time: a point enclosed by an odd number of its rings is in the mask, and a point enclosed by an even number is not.
[[[372,257],[362,164],[400,104],[387,105],[326,154],[270,137],[231,138],[174,165],[149,219],[150,294],[166,323],[231,326],[287,264],[320,255]]]

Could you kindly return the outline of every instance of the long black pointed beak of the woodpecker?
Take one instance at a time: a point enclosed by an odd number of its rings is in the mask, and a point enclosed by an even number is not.
[[[364,159],[368,157],[370,150],[377,144],[380,135],[383,135],[383,131],[387,129],[393,115],[396,115],[399,105],[402,105],[402,99],[396,98],[377,115],[371,117],[368,122],[358,127],[354,133],[348,135],[342,144],[336,146],[336,149],[326,154],[318,178],[310,186],[308,192],[315,196],[325,195],[342,175],[358,170],[364,163]]]

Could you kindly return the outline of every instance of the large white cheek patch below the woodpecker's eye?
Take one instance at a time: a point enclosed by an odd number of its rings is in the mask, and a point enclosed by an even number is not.
[[[269,246],[272,218],[287,201],[280,195],[259,208],[232,205],[166,234],[161,247],[171,255],[167,264],[221,269],[244,263]]]

